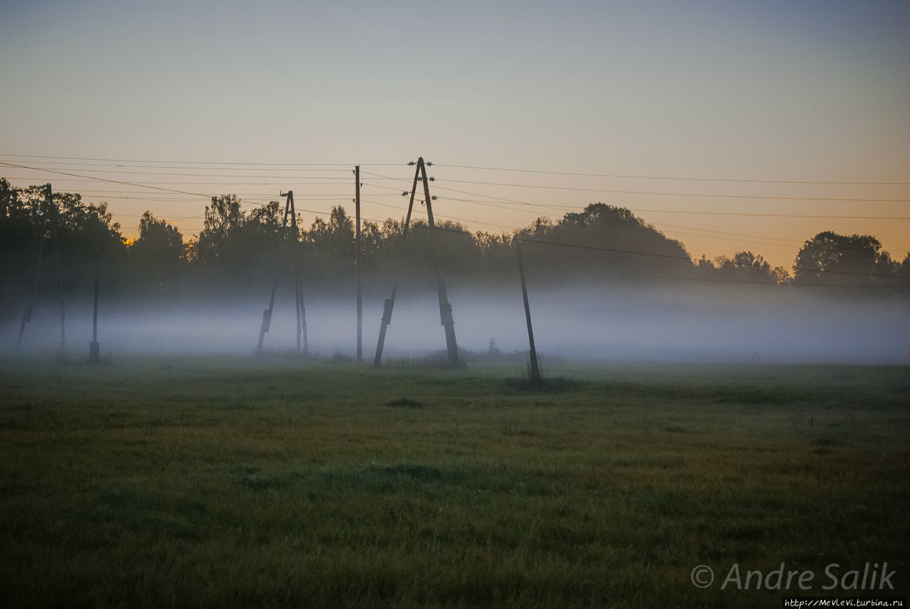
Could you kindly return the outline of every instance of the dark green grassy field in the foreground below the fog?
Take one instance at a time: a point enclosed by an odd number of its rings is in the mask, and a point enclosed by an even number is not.
[[[3,362],[0,604],[779,607],[884,562],[907,594],[907,368],[553,374]],[[782,563],[812,589],[720,589]]]

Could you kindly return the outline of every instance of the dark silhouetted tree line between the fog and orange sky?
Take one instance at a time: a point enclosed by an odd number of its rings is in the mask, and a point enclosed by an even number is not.
[[[62,276],[68,293],[86,293],[96,267],[108,289],[123,294],[168,291],[233,292],[271,282],[297,262],[307,284],[342,285],[355,268],[355,227],[342,206],[327,220],[305,227],[298,216],[282,229],[283,204],[245,206],[236,195],[213,197],[202,231],[185,239],[177,228],[147,211],[138,237],[129,241],[106,204],[86,205],[76,193],[51,192],[50,185],[15,188],[0,178],[0,255],[4,294],[54,285]],[[685,246],[622,207],[595,203],[558,221],[541,217],[511,233],[471,233],[445,221],[431,231],[403,219],[363,222],[361,275],[387,282],[432,281],[446,276],[483,283],[515,274],[515,244],[535,276],[546,281],[607,281],[628,276],[686,278],[763,284],[906,286],[910,254],[897,262],[872,235],[823,232],[807,239],[792,268],[773,267],[762,255],[693,259]],[[39,263],[40,261],[40,263]],[[38,265],[41,277],[35,284]],[[58,269],[56,265],[59,265]],[[59,274],[57,273],[59,270]],[[43,284],[42,284],[43,282]],[[4,306],[5,311],[9,311]]]

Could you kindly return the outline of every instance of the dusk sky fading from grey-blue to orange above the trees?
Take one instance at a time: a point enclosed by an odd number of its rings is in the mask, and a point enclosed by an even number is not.
[[[352,211],[358,164],[399,218],[422,156],[471,230],[602,202],[693,257],[910,249],[910,2],[0,0],[0,77],[0,175],[131,237],[211,195]]]

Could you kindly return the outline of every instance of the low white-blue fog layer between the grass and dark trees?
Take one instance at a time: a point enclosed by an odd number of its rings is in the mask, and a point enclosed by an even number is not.
[[[389,286],[390,290],[390,286]],[[289,291],[288,291],[289,292]],[[602,361],[910,364],[910,291],[727,285],[529,285],[531,317],[543,355]],[[363,299],[363,353],[376,350],[383,299]],[[515,285],[469,290],[450,285],[462,350],[485,352],[490,339],[505,353],[526,352],[521,290]],[[233,301],[102,302],[101,354],[252,354],[268,294]],[[353,356],[353,294],[308,295],[306,321],[313,354]],[[21,310],[20,310],[21,311]],[[56,304],[35,306],[23,344],[15,347],[20,312],[0,327],[4,357],[55,354],[60,340]],[[87,356],[90,302],[66,304],[66,354]],[[293,351],[293,295],[279,290],[264,350]],[[445,348],[435,293],[399,290],[385,356],[417,356]],[[470,354],[466,355],[470,363]]]

